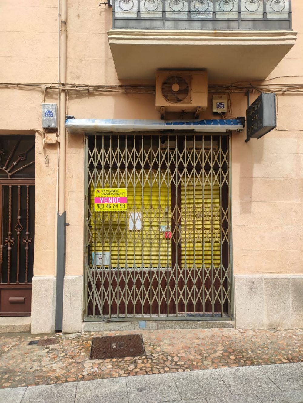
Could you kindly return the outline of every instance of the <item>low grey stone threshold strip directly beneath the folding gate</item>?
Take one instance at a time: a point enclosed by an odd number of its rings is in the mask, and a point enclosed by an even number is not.
[[[139,322],[84,322],[84,332],[104,332],[114,330],[161,330],[161,329],[211,329],[234,328],[234,322],[224,321],[194,321],[194,320],[147,320],[145,329],[139,327]]]

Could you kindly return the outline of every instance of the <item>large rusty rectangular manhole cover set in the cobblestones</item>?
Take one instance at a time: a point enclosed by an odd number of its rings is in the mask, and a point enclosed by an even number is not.
[[[94,337],[89,359],[136,357],[145,355],[141,334]]]

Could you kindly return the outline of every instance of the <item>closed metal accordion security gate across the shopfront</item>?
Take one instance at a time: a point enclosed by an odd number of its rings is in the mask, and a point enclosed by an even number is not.
[[[86,136],[84,320],[231,320],[228,135]],[[95,189],[127,211],[95,211]]]

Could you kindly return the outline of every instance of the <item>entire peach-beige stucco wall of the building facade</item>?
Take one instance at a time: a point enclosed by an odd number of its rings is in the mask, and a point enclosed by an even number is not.
[[[57,6],[57,0],[2,0],[1,82],[57,82]],[[119,83],[106,34],[111,10],[95,0],[69,1],[68,6],[67,81]],[[270,77],[303,75],[303,4],[293,0],[292,8],[298,39]],[[275,80],[301,81],[300,77]],[[257,96],[255,92],[251,101]],[[277,99],[277,130],[249,143],[244,143],[245,130],[232,135],[235,274],[303,274],[302,95],[278,94]],[[41,129],[42,100],[40,89],[1,87],[0,133]],[[46,102],[57,102],[56,91],[47,91]],[[232,106],[234,116],[245,115],[244,93],[232,96]],[[153,94],[70,93],[68,113],[77,118],[159,118]],[[211,116],[208,110],[201,118]],[[66,145],[65,196],[70,224],[66,273],[75,276],[83,273],[84,139],[68,136]],[[47,155],[48,166],[44,162]],[[35,276],[55,274],[56,175],[57,146],[43,149],[37,134]]]

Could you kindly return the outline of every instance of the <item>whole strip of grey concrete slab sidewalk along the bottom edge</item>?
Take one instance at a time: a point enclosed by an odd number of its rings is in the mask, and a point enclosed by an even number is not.
[[[268,366],[275,382],[285,376],[278,386],[255,366],[4,388],[0,403],[302,403],[301,370]]]

